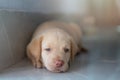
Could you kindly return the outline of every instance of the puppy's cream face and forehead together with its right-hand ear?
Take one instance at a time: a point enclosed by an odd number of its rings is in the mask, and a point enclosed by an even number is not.
[[[77,46],[64,31],[49,31],[43,34],[41,58],[43,65],[52,72],[65,72],[73,60]]]

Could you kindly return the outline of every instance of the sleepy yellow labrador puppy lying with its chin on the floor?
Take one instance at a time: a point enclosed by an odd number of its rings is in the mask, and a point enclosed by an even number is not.
[[[36,68],[65,72],[81,49],[81,30],[77,24],[49,21],[34,32],[27,46],[27,56]]]

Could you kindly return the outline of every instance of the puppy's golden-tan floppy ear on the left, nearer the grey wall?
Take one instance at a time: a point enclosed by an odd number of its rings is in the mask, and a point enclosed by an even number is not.
[[[31,59],[33,65],[36,68],[42,67],[41,60],[41,43],[43,40],[43,36],[34,38],[30,44],[27,46],[27,56]]]

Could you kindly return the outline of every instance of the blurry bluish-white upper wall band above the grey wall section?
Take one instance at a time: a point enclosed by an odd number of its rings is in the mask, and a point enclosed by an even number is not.
[[[88,11],[88,5],[87,0],[0,0],[0,9],[84,14]]]

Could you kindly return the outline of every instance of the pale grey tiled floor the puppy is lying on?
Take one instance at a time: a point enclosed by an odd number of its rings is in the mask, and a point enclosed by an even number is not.
[[[83,55],[85,58],[86,55]],[[120,80],[120,66],[115,61],[97,61],[76,58],[66,73],[52,73],[46,69],[35,69],[28,60],[6,69],[0,80]]]

